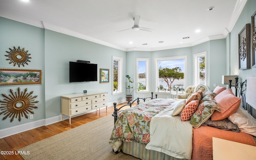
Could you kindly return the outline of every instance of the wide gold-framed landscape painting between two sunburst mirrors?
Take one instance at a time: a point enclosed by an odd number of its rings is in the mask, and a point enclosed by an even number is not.
[[[42,70],[0,68],[0,85],[41,83]]]

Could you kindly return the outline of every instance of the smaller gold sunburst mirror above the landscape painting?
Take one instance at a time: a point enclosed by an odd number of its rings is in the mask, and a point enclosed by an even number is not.
[[[18,66],[20,67],[20,65],[22,64],[22,66],[24,66],[24,64],[28,64],[28,62],[30,62],[29,59],[31,59],[31,57],[29,57],[29,53],[28,51],[25,51],[25,49],[20,49],[20,46],[18,47],[18,49],[16,49],[16,47],[13,47],[13,49],[9,48],[10,51],[6,51],[8,53],[8,55],[5,55],[7,57],[9,57],[6,60],[10,60],[10,64],[14,63],[13,65],[16,66],[16,64],[18,64]]]

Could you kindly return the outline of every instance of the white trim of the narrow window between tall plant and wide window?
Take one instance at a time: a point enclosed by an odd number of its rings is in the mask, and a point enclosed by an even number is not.
[[[141,93],[141,92],[149,92],[150,91],[150,85],[149,85],[149,59],[148,58],[136,58],[136,84],[139,86],[139,77],[138,77],[138,61],[146,61],[146,90],[143,91],[136,91],[136,93]]]

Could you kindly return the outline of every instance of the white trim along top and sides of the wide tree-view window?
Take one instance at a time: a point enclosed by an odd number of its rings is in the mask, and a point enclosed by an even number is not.
[[[174,57],[161,57],[155,58],[155,92],[157,92],[157,86],[159,86],[158,75],[159,75],[159,60],[176,60],[176,59],[184,59],[184,88],[187,87],[187,56],[174,56]]]

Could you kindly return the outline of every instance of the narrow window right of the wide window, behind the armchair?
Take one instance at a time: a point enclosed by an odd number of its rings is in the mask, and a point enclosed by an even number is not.
[[[206,52],[194,54],[194,85],[206,85]]]

